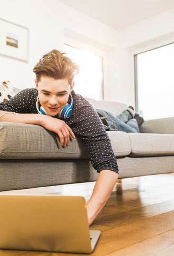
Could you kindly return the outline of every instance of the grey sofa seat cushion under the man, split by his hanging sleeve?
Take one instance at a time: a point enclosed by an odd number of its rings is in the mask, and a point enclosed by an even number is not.
[[[63,147],[56,133],[40,125],[1,122],[0,133],[1,159],[90,158],[85,142],[77,136]],[[131,142],[125,132],[108,133],[116,156],[131,152]]]

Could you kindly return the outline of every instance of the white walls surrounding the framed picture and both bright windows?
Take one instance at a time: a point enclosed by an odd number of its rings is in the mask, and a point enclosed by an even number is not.
[[[174,9],[123,30],[111,28],[57,0],[0,0],[0,18],[29,28],[29,61],[0,55],[0,81],[9,79],[21,89],[33,87],[34,65],[48,51],[63,51],[68,36],[106,51],[104,97],[133,106],[134,54],[174,42]]]

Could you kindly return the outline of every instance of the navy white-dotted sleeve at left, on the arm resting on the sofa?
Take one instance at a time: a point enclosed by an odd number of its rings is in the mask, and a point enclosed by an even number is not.
[[[10,100],[0,103],[0,110],[20,114],[37,114],[37,95],[38,91],[36,88],[24,89],[11,97]]]

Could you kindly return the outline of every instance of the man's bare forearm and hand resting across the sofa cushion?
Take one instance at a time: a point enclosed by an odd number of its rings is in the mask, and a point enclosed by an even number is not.
[[[64,121],[51,116],[39,114],[19,114],[0,110],[0,122],[1,121],[42,125],[47,130],[58,134],[61,145],[65,147],[69,143],[69,134],[75,138],[73,131]]]

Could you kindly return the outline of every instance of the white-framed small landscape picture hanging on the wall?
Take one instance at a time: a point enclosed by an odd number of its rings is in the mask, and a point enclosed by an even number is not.
[[[0,19],[0,54],[28,62],[29,29]]]

